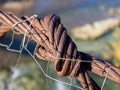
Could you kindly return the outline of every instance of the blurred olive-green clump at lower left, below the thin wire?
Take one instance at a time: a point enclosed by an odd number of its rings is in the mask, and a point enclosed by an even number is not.
[[[35,63],[28,63],[27,67],[26,64],[22,64],[18,69],[21,74],[12,83],[14,86],[22,88],[20,90],[48,90],[46,81],[43,80],[44,75],[38,72]]]

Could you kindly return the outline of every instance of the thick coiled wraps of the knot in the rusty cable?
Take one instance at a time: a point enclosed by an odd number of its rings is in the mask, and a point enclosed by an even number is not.
[[[49,39],[49,53],[56,57],[55,70],[59,76],[74,77],[80,68],[80,58],[77,47],[67,34],[66,28],[61,24],[60,18],[50,15],[44,18],[44,29],[47,30]],[[45,46],[43,46],[46,48]]]

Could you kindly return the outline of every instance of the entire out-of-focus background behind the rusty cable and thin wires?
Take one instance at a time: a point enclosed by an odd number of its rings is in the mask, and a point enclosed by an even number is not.
[[[0,9],[23,15],[49,14],[61,17],[63,25],[75,41],[78,50],[102,58],[120,67],[120,0],[0,0]],[[12,33],[8,33],[1,43],[9,44]],[[14,48],[18,48],[22,38],[15,36]],[[29,45],[32,51],[35,44]],[[10,73],[19,57],[0,46],[0,90],[66,90],[69,86],[46,78],[25,51],[22,53],[15,71]],[[70,78],[58,77],[54,65],[39,61],[46,73],[58,80],[70,83]],[[91,74],[101,86],[104,77]],[[74,85],[80,86],[75,79]],[[72,87],[73,90],[80,90]],[[120,85],[107,80],[103,90],[119,90]]]

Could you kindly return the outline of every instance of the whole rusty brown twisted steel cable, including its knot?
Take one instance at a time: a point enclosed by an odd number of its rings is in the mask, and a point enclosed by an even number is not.
[[[11,30],[16,22],[30,17],[17,16],[0,11],[0,39]],[[31,24],[32,30],[29,28]],[[84,90],[100,90],[100,86],[89,76],[91,71],[120,84],[120,68],[108,62],[78,51],[77,46],[67,34],[66,28],[56,15],[46,16],[44,19],[35,18],[15,26],[15,32],[25,34],[37,43],[35,56],[39,59],[55,63],[55,70],[59,76],[77,77]]]

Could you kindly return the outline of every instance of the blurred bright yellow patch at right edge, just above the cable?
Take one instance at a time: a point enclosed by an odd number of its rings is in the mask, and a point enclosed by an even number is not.
[[[116,27],[112,32],[113,41],[107,42],[105,46],[106,52],[102,53],[102,57],[111,60],[116,66],[120,66],[120,27]]]

